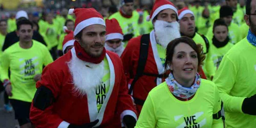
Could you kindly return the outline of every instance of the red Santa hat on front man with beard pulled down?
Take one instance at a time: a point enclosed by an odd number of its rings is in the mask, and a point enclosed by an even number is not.
[[[74,36],[90,25],[100,24],[106,27],[102,15],[94,8],[69,9],[68,14],[73,13],[76,15]]]

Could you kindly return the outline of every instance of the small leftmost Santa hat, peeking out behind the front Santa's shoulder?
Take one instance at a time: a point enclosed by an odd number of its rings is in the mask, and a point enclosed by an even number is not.
[[[75,39],[73,31],[68,30],[66,26],[63,27],[63,30],[65,33],[67,33],[62,42],[62,52],[64,53],[68,46],[74,45]]]

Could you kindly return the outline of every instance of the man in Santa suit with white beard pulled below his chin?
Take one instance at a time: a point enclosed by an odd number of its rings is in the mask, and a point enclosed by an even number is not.
[[[136,110],[122,61],[104,48],[103,17],[93,8],[70,9],[72,13],[74,48],[44,68],[31,122],[38,128],[133,128]]]

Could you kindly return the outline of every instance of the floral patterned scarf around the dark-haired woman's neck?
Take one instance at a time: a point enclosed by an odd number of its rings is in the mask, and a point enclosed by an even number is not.
[[[173,95],[180,97],[182,99],[188,99],[191,96],[193,96],[201,84],[200,75],[198,73],[196,73],[195,83],[191,87],[184,87],[180,85],[174,79],[172,73],[169,74],[169,77],[167,77],[165,81],[166,81],[166,84],[168,85],[170,92]]]

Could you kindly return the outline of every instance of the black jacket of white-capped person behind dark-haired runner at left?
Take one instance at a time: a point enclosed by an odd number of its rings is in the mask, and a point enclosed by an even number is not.
[[[44,38],[43,36],[41,36],[37,31],[34,31],[33,32],[33,37],[32,37],[33,40],[36,40],[38,42],[41,42],[42,44],[45,44],[44,42]],[[3,48],[2,48],[2,51],[4,51],[5,49],[7,49],[8,47],[10,47],[12,44],[16,43],[19,41],[19,37],[17,36],[16,34],[16,31],[13,31],[11,33],[8,33],[6,36],[5,36],[5,40],[4,40],[4,45],[3,45]]]

